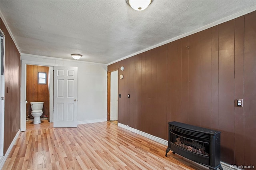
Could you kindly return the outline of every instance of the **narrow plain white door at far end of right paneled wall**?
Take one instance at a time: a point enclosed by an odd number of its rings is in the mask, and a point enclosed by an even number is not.
[[[118,71],[110,75],[110,121],[118,119]]]

